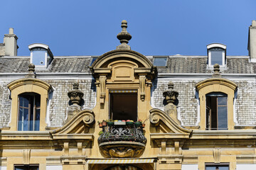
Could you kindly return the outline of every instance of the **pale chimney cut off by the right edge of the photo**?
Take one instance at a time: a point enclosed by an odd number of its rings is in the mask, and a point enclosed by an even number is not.
[[[256,21],[252,21],[252,25],[249,27],[248,38],[248,52],[250,55],[250,61],[256,62]]]

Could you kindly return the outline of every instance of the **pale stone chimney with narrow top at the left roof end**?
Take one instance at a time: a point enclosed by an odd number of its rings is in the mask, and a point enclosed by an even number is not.
[[[17,56],[18,37],[14,34],[14,28],[9,28],[9,34],[4,35],[5,55]]]

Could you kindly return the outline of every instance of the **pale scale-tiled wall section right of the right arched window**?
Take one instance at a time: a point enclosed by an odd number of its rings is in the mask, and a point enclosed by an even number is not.
[[[235,81],[235,83],[238,84],[238,97],[235,102],[238,125],[256,125],[255,82]]]

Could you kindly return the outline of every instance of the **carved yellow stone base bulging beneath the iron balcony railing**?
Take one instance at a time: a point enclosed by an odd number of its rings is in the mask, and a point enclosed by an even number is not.
[[[100,144],[100,152],[102,153],[103,157],[140,157],[143,154],[144,149],[145,145],[139,142],[105,142]]]

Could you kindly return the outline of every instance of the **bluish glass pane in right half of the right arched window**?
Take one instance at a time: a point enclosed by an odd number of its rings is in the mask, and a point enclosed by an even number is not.
[[[218,106],[218,129],[228,129],[227,106]]]

